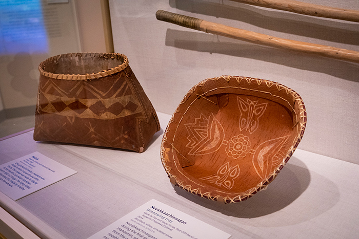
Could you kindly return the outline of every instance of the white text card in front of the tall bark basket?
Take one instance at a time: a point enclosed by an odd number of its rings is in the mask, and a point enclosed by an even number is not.
[[[36,151],[0,165],[0,191],[18,200],[75,173]]]

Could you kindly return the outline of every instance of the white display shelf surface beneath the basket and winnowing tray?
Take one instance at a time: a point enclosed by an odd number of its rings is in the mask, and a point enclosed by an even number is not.
[[[220,204],[172,186],[160,158],[171,116],[158,117],[161,131],[141,154],[38,143],[33,131],[0,141],[0,164],[39,151],[78,172],[17,201],[0,193],[7,212],[0,213],[0,220],[8,225],[0,233],[13,230],[24,237],[24,228],[10,225],[10,218],[41,238],[87,238],[156,199],[231,238],[359,237],[359,165],[297,149],[266,190],[241,203]]]

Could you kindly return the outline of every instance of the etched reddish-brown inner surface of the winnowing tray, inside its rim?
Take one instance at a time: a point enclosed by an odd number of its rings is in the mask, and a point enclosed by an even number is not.
[[[216,94],[196,99],[183,115],[173,158],[199,185],[245,192],[283,164],[297,136],[293,113],[284,105],[251,95]]]

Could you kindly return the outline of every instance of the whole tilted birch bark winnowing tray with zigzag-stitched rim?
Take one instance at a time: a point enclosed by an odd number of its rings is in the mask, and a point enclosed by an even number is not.
[[[269,80],[221,76],[196,84],[166,128],[170,181],[201,197],[244,201],[287,163],[306,126],[302,98]]]

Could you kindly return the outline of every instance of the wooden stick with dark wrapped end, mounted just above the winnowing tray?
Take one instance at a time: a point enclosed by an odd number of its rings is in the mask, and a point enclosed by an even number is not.
[[[168,23],[173,23],[198,31],[248,41],[255,44],[317,54],[324,57],[359,63],[359,52],[356,51],[278,38],[261,33],[228,27],[222,24],[212,23],[211,21],[205,21],[203,19],[179,15],[163,10],[158,10],[156,12],[156,18],[158,20],[167,21]]]

